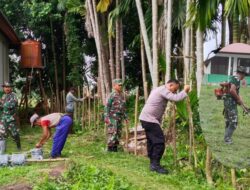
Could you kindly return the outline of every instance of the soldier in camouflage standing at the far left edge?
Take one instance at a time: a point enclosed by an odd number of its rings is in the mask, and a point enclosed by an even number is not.
[[[19,132],[16,126],[17,97],[12,92],[12,85],[8,82],[3,84],[4,95],[0,99],[0,139],[5,139],[8,135],[14,139],[17,149],[21,150]]]

